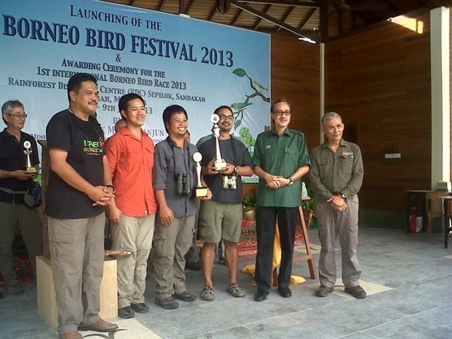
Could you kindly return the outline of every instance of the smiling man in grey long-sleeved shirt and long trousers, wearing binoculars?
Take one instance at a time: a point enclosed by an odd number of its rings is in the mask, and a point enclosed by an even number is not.
[[[198,204],[194,198],[195,145],[186,141],[188,117],[184,107],[169,106],[163,111],[168,137],[155,146],[153,186],[158,203],[153,242],[155,303],[177,309],[179,303],[193,302],[196,295],[186,289],[185,254],[194,232]],[[212,195],[208,191],[210,198]]]

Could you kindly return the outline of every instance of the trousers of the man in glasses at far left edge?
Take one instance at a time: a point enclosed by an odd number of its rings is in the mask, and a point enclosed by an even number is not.
[[[16,285],[13,267],[13,241],[16,228],[22,233],[36,275],[36,256],[42,254],[42,223],[36,208],[0,202],[0,273],[6,285]]]

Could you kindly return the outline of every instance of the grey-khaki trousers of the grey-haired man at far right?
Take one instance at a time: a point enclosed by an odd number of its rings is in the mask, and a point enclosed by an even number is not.
[[[317,198],[316,215],[319,220],[321,251],[319,259],[320,284],[333,287],[336,281],[335,239],[339,237],[342,249],[342,281],[345,287],[359,285],[361,266],[357,257],[358,196],[347,201],[347,210],[334,210],[331,204]]]

